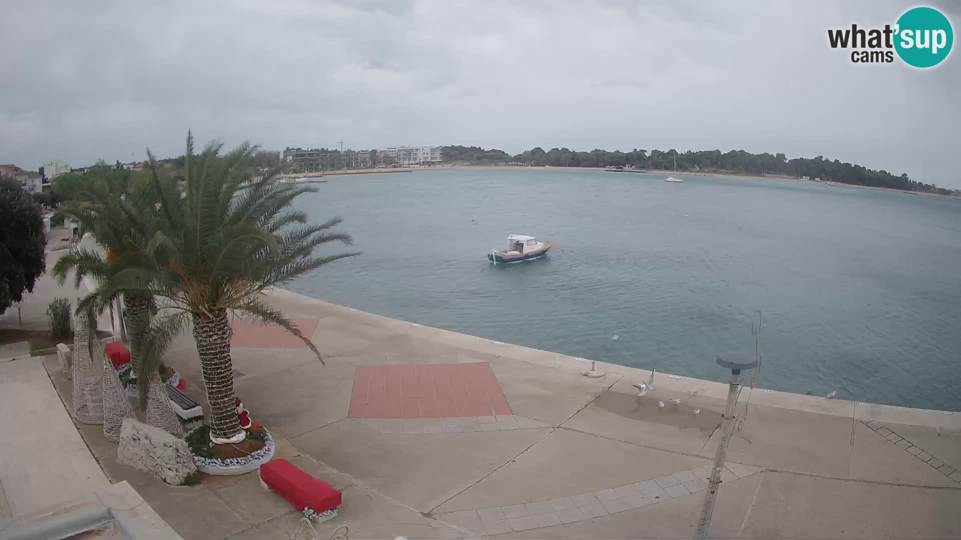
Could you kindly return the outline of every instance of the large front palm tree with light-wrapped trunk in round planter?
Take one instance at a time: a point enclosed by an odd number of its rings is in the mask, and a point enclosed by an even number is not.
[[[194,153],[187,133],[185,168],[168,174],[147,151],[148,176],[157,196],[142,256],[123,258],[123,269],[107,278],[105,291],[141,291],[160,299],[160,312],[144,333],[140,360],[154,370],[173,338],[192,326],[210,407],[210,440],[215,444],[244,439],[234,410],[234,369],[229,315],[245,313],[276,324],[317,348],[281,311],[260,294],[320,266],[358,253],[313,257],[315,247],[333,241],[351,243],[333,228],[334,217],[307,225],[307,214],[289,209],[298,196],[316,191],[278,182],[273,170],[255,177],[256,146],[244,143],[224,156],[211,142]],[[321,361],[323,359],[321,358]]]

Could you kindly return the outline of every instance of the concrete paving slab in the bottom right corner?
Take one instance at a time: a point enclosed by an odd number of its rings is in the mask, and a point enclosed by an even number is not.
[[[750,478],[750,477],[749,477]],[[961,490],[766,472],[748,538],[930,538],[961,535]]]

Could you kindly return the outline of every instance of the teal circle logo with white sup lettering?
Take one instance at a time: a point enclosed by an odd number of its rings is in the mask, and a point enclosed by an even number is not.
[[[914,8],[898,19],[895,50],[908,65],[931,67],[948,58],[954,32],[948,17],[932,8]]]

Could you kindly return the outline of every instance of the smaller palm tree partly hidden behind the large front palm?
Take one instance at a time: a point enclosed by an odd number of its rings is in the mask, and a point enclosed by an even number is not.
[[[67,274],[73,271],[75,287],[86,275],[104,282],[108,276],[126,267],[124,261],[139,258],[142,251],[139,246],[145,243],[151,216],[156,213],[157,197],[147,178],[130,171],[112,170],[104,165],[95,167],[87,176],[84,188],[78,190],[74,198],[65,202],[59,211],[80,223],[82,231],[92,233],[97,243],[107,250],[107,258],[95,250],[79,249],[58,259],[54,265],[54,276],[62,284]],[[136,288],[113,291],[111,295],[98,290],[84,306],[93,308],[93,298],[96,298],[96,308],[99,310],[110,305],[113,298],[121,294],[126,312],[132,373],[136,374],[138,381],[144,382],[138,385],[142,394],[140,406],[147,409],[148,423],[173,434],[183,434],[167,401],[159,371],[143,370],[140,365],[143,347],[137,336],[149,324],[153,297]]]

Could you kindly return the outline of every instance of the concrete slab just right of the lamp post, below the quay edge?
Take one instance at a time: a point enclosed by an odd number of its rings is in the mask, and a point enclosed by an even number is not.
[[[727,460],[790,471],[847,478],[854,420],[841,416],[752,404],[735,430]],[[702,455],[713,457],[721,431]]]

